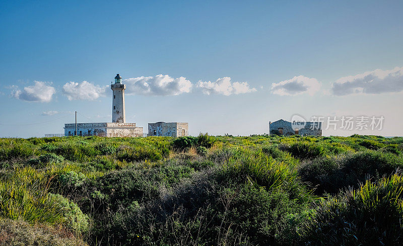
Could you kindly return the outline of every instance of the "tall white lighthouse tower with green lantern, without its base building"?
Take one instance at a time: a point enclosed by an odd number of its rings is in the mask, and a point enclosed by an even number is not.
[[[120,74],[115,76],[115,84],[110,85],[113,91],[112,98],[112,122],[124,123],[126,122],[126,114],[124,112],[124,90],[126,85],[122,84],[122,77]]]

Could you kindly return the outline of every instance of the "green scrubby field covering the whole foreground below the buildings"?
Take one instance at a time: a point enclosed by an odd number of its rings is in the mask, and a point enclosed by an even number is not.
[[[0,138],[1,245],[403,244],[403,138]]]

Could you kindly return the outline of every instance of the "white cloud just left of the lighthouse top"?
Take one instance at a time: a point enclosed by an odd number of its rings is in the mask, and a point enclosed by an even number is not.
[[[98,86],[88,81],[82,83],[69,82],[63,85],[64,95],[71,100],[95,100],[106,96],[106,88],[109,86]]]

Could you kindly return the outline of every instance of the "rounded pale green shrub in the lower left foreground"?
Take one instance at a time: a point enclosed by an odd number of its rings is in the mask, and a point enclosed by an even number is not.
[[[61,215],[64,226],[79,233],[86,232],[88,230],[88,215],[83,214],[76,203],[58,194],[49,193],[49,196],[54,199],[62,211]]]

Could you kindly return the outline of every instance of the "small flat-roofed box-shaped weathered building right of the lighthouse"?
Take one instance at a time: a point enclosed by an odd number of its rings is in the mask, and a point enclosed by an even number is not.
[[[185,122],[148,123],[148,136],[184,137],[189,135],[189,124]]]

